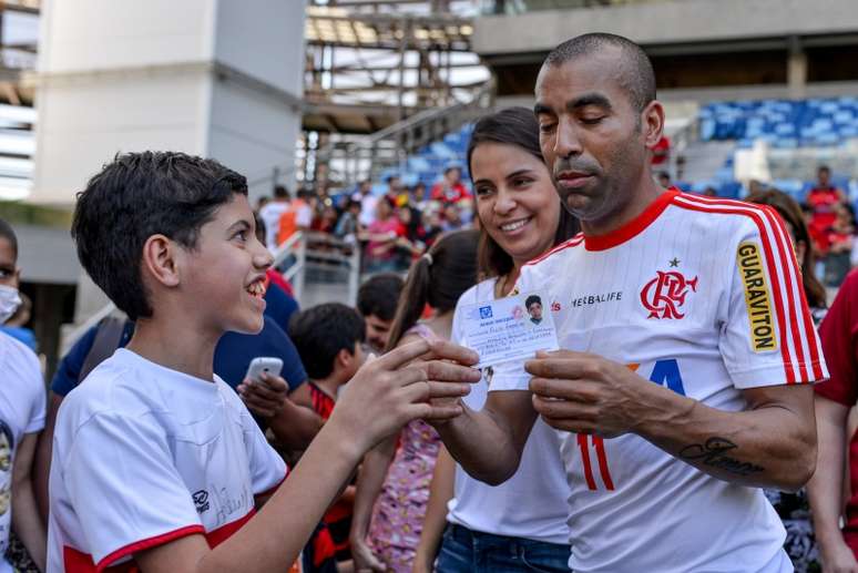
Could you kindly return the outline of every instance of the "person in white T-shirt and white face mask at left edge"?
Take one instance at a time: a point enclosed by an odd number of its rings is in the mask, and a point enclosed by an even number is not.
[[[0,324],[21,304],[18,295],[18,239],[0,219]],[[44,427],[45,391],[39,359],[27,346],[0,332],[0,573],[14,530],[35,565],[44,571],[45,529],[35,505],[32,464]]]

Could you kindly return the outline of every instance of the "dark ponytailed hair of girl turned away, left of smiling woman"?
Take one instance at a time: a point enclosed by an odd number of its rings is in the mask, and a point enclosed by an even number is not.
[[[438,313],[456,308],[462,294],[477,284],[477,245],[479,233],[474,229],[456,231],[442,235],[411,264],[387,348],[399,344],[409,328],[417,324],[428,304]]]

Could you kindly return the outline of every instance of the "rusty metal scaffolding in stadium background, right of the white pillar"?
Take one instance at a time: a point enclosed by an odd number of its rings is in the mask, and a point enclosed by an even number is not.
[[[327,180],[326,160],[335,146],[361,146],[370,134],[484,94],[490,73],[470,43],[480,6],[474,0],[310,0],[298,150],[303,178]]]

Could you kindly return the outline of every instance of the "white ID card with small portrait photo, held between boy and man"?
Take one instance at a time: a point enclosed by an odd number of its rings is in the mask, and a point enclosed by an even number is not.
[[[538,350],[556,350],[558,331],[541,293],[462,307],[464,345],[480,355],[479,368],[528,360]]]

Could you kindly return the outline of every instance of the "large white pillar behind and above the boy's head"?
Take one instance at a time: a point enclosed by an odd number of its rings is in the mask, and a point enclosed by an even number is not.
[[[30,201],[71,207],[102,164],[142,150],[217,158],[252,202],[274,167],[293,183],[304,18],[305,0],[44,0]],[[100,300],[79,296],[82,320]]]

